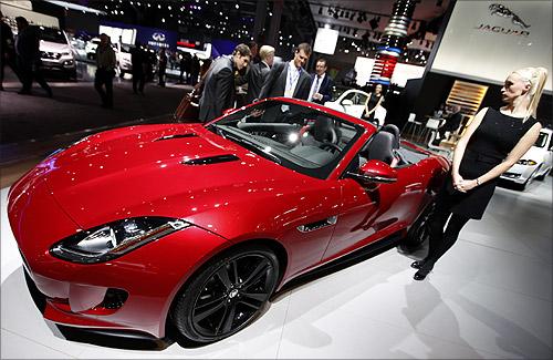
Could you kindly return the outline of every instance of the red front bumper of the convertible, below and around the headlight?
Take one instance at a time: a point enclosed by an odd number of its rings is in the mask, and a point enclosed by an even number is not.
[[[190,226],[107,263],[74,264],[49,253],[79,226],[56,205],[43,176],[31,172],[15,184],[8,208],[30,281],[42,294],[44,318],[71,327],[163,338],[182,284],[229,244]]]

